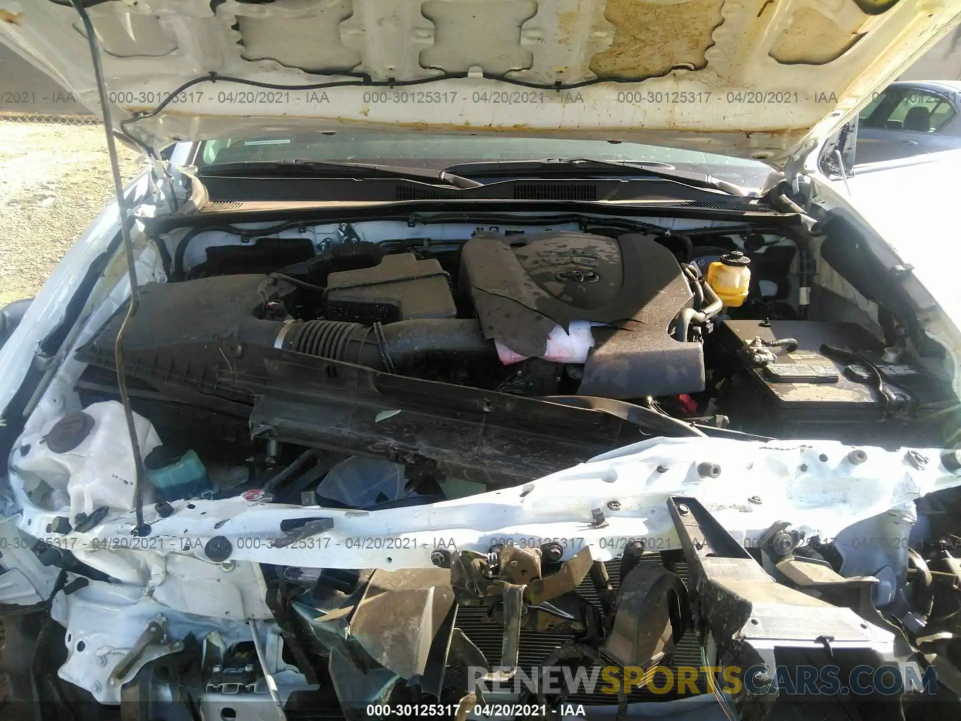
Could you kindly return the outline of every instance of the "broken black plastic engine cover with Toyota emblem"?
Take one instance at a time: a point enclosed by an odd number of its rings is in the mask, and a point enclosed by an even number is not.
[[[464,244],[460,281],[484,336],[523,356],[542,356],[555,325],[587,320],[595,346],[579,393],[639,398],[702,390],[700,343],[669,334],[693,294],[678,261],[654,236],[572,231]]]

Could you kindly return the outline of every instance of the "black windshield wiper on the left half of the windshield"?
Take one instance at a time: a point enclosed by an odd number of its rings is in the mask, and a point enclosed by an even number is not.
[[[352,178],[355,180],[412,180],[421,183],[425,181],[440,181],[446,186],[459,188],[483,185],[476,180],[461,177],[447,170],[377,165],[362,162],[320,162],[306,160],[217,162],[211,165],[205,165],[200,169],[198,174],[201,177],[219,175],[264,178]]]

